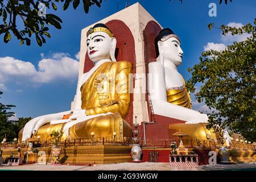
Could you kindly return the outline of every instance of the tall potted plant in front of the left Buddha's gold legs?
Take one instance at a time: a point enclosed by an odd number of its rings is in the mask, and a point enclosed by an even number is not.
[[[60,129],[59,131],[52,131],[50,134],[50,137],[52,138],[54,145],[52,146],[52,163],[53,164],[59,164],[60,161],[60,155],[61,155],[61,147],[57,147],[59,144],[59,140],[63,135],[63,129]]]

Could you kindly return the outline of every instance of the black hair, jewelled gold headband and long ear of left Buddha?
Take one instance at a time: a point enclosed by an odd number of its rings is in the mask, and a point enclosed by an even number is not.
[[[94,32],[105,32],[106,34],[108,34],[110,36],[110,38],[112,39],[112,47],[111,47],[111,51],[110,51],[110,57],[111,57],[112,61],[116,62],[117,60],[115,59],[115,47],[117,46],[117,40],[114,38],[113,32],[109,29],[109,27],[107,27],[103,23],[97,23],[92,28],[90,28],[88,30],[86,36],[88,37],[88,35],[90,35]]]

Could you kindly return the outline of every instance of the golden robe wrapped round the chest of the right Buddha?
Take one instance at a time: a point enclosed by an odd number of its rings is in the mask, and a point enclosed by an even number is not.
[[[167,102],[191,109],[191,97],[185,87],[184,79],[183,86],[180,88],[167,88],[166,94]]]

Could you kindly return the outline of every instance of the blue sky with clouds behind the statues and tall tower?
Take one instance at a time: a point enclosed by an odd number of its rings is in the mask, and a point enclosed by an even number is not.
[[[130,5],[135,2],[138,1],[131,0]],[[208,15],[211,2],[217,4],[216,17]],[[223,49],[234,40],[246,38],[246,35],[224,38],[219,30],[209,31],[209,23],[241,26],[253,23],[256,18],[255,0],[234,0],[228,5],[218,5],[218,0],[183,0],[182,4],[179,0],[141,0],[139,3],[163,27],[172,28],[181,38],[184,56],[179,72],[185,80],[190,77],[187,69],[199,63],[204,49]],[[126,0],[118,0],[118,4],[121,10],[125,8]],[[0,36],[0,90],[3,91],[0,102],[16,105],[13,109],[16,117],[36,117],[70,109],[76,91],[76,54],[80,50],[81,29],[116,13],[117,0],[103,1],[100,8],[91,7],[89,14],[84,13],[81,5],[77,10],[73,10],[72,5],[66,11],[60,6],[58,9],[55,14],[63,20],[63,28],[51,27],[52,38],[42,47],[35,41],[31,46],[19,46],[14,37],[5,44],[3,35]],[[48,10],[47,13],[52,12]],[[6,63],[12,63],[11,67]],[[55,71],[56,65],[66,70],[65,75]],[[196,102],[192,106],[197,110],[207,109]]]

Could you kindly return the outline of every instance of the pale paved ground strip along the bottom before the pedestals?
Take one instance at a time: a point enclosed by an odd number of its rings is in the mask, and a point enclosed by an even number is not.
[[[96,166],[52,166],[40,164],[26,164],[23,166],[0,166],[1,170],[31,170],[31,171],[176,171],[176,170],[253,170],[256,171],[256,164],[214,164],[204,165],[199,168],[185,169],[185,168],[170,168],[168,163],[117,163],[117,164],[97,164]]]

